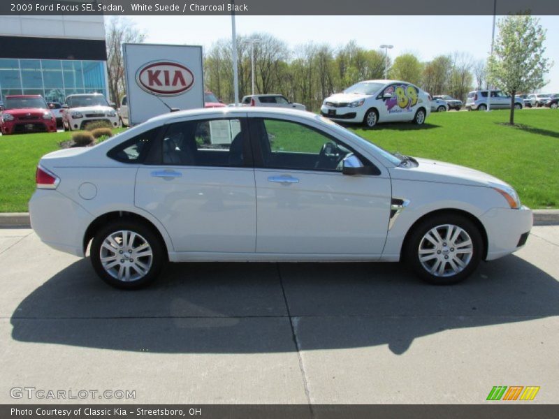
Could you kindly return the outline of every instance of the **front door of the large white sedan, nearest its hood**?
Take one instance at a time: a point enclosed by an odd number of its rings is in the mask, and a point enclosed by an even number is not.
[[[268,115],[269,116],[269,115]],[[256,168],[258,253],[375,258],[389,222],[391,182],[375,175],[344,175],[354,152],[306,119],[251,114]]]

